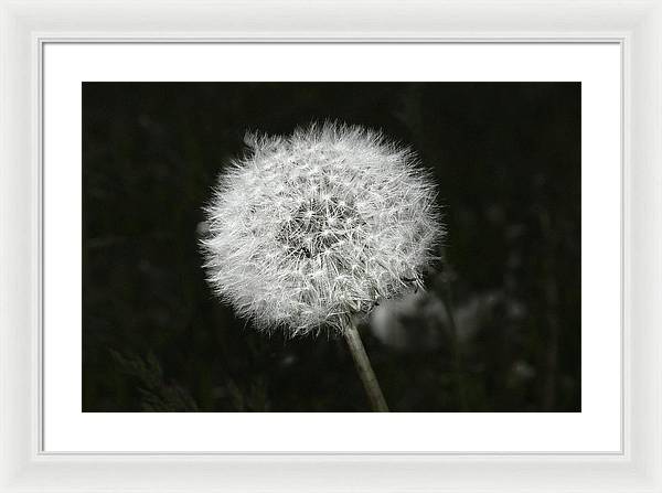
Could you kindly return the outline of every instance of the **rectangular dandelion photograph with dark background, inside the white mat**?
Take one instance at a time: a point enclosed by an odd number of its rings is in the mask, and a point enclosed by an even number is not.
[[[82,103],[83,412],[581,411],[581,83]]]

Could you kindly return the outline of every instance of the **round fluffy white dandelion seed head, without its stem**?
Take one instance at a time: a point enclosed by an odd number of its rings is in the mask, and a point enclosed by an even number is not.
[[[209,282],[238,315],[291,336],[342,332],[423,288],[444,228],[410,150],[333,124],[246,143],[218,178],[202,239]]]

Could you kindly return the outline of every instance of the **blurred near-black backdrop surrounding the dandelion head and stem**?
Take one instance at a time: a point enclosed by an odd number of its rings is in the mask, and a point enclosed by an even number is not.
[[[392,410],[579,411],[575,83],[83,84],[83,410],[370,410],[343,340],[257,333],[201,269],[245,131],[324,119],[412,146],[445,207],[428,293],[361,328]]]

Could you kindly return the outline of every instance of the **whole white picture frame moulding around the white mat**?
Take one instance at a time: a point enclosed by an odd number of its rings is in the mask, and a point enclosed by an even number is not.
[[[662,491],[662,3],[0,3],[0,491]],[[71,42],[617,42],[623,66],[618,454],[44,453],[41,56]]]

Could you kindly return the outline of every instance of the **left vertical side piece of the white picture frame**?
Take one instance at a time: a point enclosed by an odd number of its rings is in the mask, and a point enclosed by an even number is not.
[[[30,42],[12,6],[0,3],[0,491],[34,457],[32,393],[38,224],[33,216]],[[25,193],[28,191],[28,193]]]

